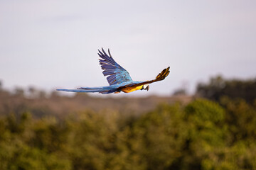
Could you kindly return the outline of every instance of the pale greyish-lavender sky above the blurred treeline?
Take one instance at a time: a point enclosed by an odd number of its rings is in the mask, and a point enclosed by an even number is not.
[[[171,67],[149,91],[127,96],[192,93],[218,74],[255,78],[255,18],[256,1],[1,0],[0,81],[48,91],[107,86],[101,47],[134,81]]]

